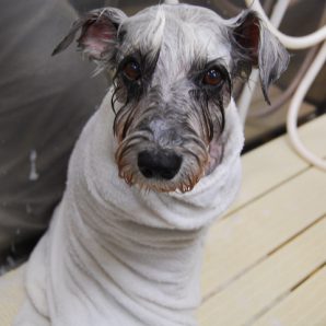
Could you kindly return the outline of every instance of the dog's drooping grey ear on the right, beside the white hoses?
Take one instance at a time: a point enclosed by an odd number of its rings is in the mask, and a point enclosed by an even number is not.
[[[236,72],[258,68],[264,97],[270,103],[267,89],[287,69],[290,59],[288,51],[252,10],[240,14],[232,26],[232,37]]]

